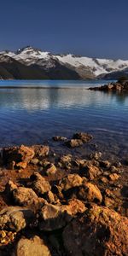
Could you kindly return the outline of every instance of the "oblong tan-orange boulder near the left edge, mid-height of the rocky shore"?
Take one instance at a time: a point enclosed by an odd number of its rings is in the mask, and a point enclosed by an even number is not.
[[[16,204],[23,207],[34,207],[37,209],[44,205],[44,199],[38,198],[38,195],[28,188],[19,187],[13,190],[13,198]]]

